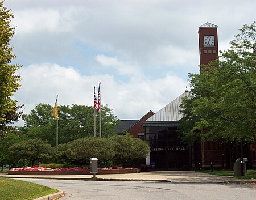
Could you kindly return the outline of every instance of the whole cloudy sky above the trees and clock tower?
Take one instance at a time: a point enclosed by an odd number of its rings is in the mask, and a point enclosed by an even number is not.
[[[6,0],[12,10],[15,93],[25,113],[39,103],[101,103],[120,119],[157,112],[199,72],[198,29],[218,25],[219,50],[255,20],[255,0]]]

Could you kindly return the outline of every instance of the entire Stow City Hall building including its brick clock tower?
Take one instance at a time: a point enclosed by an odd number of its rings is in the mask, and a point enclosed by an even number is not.
[[[200,65],[207,64],[218,57],[217,26],[205,23],[199,27]],[[154,113],[150,110],[140,120],[121,120],[117,134],[125,130],[133,137],[146,141],[150,155],[144,164],[155,170],[207,169],[211,167],[232,169],[233,163],[240,158],[240,146],[236,143],[196,141],[191,146],[181,143],[177,126],[182,118],[180,103],[189,91],[172,100],[164,108]],[[247,167],[256,168],[256,145],[243,146],[243,158]]]

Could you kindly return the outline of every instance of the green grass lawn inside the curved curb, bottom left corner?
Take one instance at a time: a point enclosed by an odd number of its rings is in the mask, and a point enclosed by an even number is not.
[[[32,182],[0,178],[0,200],[31,200],[56,192],[59,190]]]

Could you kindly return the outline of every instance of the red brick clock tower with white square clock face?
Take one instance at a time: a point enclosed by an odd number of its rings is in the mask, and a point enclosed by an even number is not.
[[[208,64],[218,57],[217,25],[209,22],[201,25],[198,30],[200,65]]]

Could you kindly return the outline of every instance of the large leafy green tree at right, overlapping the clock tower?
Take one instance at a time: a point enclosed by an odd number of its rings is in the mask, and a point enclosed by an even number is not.
[[[244,25],[219,60],[189,74],[182,103],[184,141],[256,142],[256,21]]]

